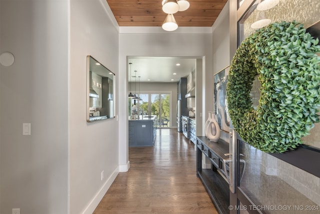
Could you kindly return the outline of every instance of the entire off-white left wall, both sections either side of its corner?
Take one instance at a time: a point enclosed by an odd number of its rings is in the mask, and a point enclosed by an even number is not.
[[[0,53],[15,56],[0,66],[0,213],[92,213],[117,175],[118,122],[85,120],[86,56],[118,84],[118,32],[104,6],[0,1]]]

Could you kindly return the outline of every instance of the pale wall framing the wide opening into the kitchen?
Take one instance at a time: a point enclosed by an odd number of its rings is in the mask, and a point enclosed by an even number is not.
[[[204,56],[205,75],[212,73],[212,35],[209,34],[119,34],[119,127],[123,133],[127,133],[127,56]],[[210,75],[212,77],[212,74]],[[213,79],[212,79],[213,80]],[[198,84],[198,87],[207,87],[205,84]],[[204,101],[203,101],[204,102]],[[208,97],[205,102],[213,103],[213,98]],[[119,133],[119,165],[122,170],[128,166],[128,139],[127,135]]]

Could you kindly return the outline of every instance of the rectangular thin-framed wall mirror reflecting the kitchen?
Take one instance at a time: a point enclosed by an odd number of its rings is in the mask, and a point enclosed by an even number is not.
[[[115,75],[91,56],[86,57],[86,121],[114,117]]]

